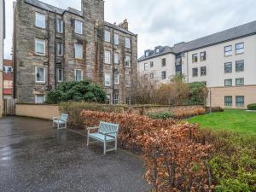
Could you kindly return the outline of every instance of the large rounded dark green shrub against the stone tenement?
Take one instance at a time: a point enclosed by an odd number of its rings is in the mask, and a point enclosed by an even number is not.
[[[50,104],[59,102],[105,102],[106,92],[98,84],[90,80],[80,82],[63,82],[55,90],[49,91],[46,102]]]

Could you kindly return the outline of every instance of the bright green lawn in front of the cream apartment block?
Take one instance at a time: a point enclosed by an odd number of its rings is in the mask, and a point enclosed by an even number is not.
[[[236,131],[243,134],[256,134],[256,113],[245,110],[225,110],[222,113],[208,113],[188,120],[203,128]]]

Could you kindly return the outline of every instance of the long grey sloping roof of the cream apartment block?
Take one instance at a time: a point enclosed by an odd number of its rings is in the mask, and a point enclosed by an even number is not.
[[[241,26],[230,28],[223,32],[217,32],[203,38],[198,38],[187,43],[183,42],[181,44],[174,44],[174,46],[172,47],[172,51],[170,51],[169,53],[179,54],[185,51],[201,49],[204,47],[212,46],[214,44],[221,44],[233,39],[244,38],[254,34],[256,34],[256,20]],[[160,55],[164,54],[166,53],[160,53]],[[138,61],[150,59],[154,56],[155,55],[150,55],[148,57],[142,56]]]

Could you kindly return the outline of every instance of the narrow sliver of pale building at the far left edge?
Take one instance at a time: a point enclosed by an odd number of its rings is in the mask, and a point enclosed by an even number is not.
[[[5,37],[4,0],[0,0],[0,117],[3,114],[3,39]]]

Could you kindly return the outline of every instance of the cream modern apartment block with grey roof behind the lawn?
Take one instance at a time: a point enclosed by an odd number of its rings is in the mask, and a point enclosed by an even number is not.
[[[145,50],[138,72],[161,83],[183,74],[186,82],[204,82],[208,104],[246,108],[256,102],[256,21],[172,47]]]

